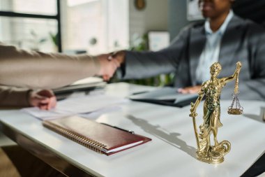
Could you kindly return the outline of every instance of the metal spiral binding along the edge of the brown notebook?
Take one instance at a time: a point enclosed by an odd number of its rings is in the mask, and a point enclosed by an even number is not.
[[[104,151],[104,148],[106,147],[104,144],[99,143],[98,141],[94,141],[93,139],[89,139],[86,136],[82,136],[81,134],[78,134],[77,132],[73,132],[69,129],[65,129],[58,125],[54,125],[50,122],[43,121],[43,125],[53,130],[54,132],[57,132],[61,134],[62,136],[66,136],[66,138],[71,139],[75,141],[76,143],[79,143],[82,146],[85,146],[86,148],[89,148],[95,151],[96,153],[102,154]]]

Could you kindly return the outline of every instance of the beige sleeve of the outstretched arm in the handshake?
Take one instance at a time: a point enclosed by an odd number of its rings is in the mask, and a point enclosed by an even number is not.
[[[89,55],[29,52],[0,43],[0,84],[55,88],[94,76],[99,62]]]

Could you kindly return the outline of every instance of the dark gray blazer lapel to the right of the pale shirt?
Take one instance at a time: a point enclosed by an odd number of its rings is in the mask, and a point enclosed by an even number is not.
[[[241,45],[241,41],[239,40],[242,36],[243,30],[241,30],[241,22],[239,17],[234,15],[232,20],[227,25],[227,29],[225,30],[225,34],[222,37],[220,53],[219,53],[219,62],[222,65],[222,73],[220,73],[220,77],[227,76],[230,74],[231,66],[236,64],[236,52],[239,49],[239,45]],[[227,70],[228,69],[228,70]]]

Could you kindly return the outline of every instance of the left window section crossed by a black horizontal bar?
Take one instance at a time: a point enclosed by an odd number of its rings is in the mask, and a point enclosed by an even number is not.
[[[27,50],[61,50],[58,5],[59,0],[0,0],[0,41]]]

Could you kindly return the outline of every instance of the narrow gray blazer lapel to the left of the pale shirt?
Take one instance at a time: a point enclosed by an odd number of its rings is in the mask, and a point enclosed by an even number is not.
[[[192,28],[190,30],[190,80],[192,85],[196,85],[196,69],[199,64],[199,56],[204,49],[206,43],[206,36],[204,26]]]

